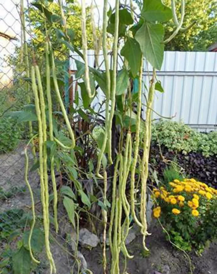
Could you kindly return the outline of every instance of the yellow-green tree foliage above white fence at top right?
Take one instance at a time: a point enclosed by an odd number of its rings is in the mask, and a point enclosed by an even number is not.
[[[171,1],[165,0],[170,6]],[[180,20],[181,1],[176,1],[176,13]],[[171,42],[165,45],[165,50],[177,51],[206,51],[216,42],[217,38],[217,2],[215,0],[185,1],[185,16],[183,27],[196,22],[192,28],[180,32]],[[165,24],[165,37],[169,37],[175,30],[173,20]]]

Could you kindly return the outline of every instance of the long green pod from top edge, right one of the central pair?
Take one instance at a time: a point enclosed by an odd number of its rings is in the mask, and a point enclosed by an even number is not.
[[[108,120],[108,160],[112,164],[112,148],[111,148],[111,130],[112,130],[112,119],[114,116],[115,109],[115,98],[116,98],[116,70],[117,70],[117,56],[118,56],[118,26],[119,26],[119,0],[115,1],[115,21],[114,21],[114,43],[113,43],[113,81],[112,81],[112,93],[111,93],[111,109]]]

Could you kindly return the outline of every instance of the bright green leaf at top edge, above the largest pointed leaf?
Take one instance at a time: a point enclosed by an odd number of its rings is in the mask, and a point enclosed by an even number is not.
[[[145,0],[141,16],[147,21],[169,21],[172,18],[172,11],[162,3],[162,0]]]

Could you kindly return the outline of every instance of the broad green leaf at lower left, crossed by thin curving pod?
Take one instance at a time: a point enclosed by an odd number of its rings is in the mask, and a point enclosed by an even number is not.
[[[23,246],[29,250],[29,233],[25,231],[23,234]],[[33,252],[42,252],[44,247],[44,233],[39,228],[34,228],[31,237],[31,249]]]

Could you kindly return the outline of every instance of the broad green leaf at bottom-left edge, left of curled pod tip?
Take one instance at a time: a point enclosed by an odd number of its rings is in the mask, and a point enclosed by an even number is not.
[[[14,274],[27,274],[31,271],[31,257],[29,250],[22,246],[13,257],[13,273]]]

